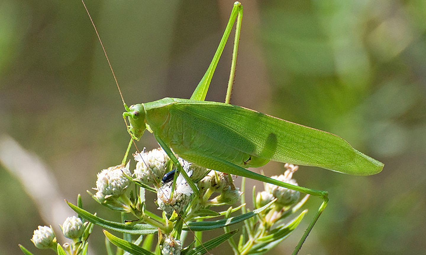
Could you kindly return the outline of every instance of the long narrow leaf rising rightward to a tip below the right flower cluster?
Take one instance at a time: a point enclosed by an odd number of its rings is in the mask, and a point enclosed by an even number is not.
[[[275,202],[275,200],[276,199],[274,199],[273,201],[271,201],[269,204],[265,205],[264,207],[261,207],[259,209],[252,211],[252,212],[247,212],[245,214],[238,215],[238,216],[235,216],[235,217],[226,218],[226,219],[222,219],[222,220],[218,220],[218,221],[190,222],[190,223],[188,223],[188,226],[185,227],[183,230],[186,230],[186,231],[188,231],[188,230],[206,231],[206,230],[212,230],[212,229],[230,226],[230,225],[239,223],[241,221],[245,221],[245,220],[257,215],[258,213],[260,213],[263,210],[265,210],[266,208],[268,208],[271,204],[273,204],[273,202]]]

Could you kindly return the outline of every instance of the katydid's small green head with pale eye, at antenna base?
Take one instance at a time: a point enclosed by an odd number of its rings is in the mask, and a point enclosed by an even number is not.
[[[147,128],[144,104],[131,105],[129,108],[126,108],[123,117],[125,118],[126,116],[129,118],[130,122],[130,135],[133,139],[139,140]]]

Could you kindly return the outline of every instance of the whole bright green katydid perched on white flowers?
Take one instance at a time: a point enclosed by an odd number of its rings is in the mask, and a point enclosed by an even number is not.
[[[225,103],[204,101],[235,20],[236,34]],[[355,150],[339,136],[229,104],[241,20],[242,5],[235,2],[213,60],[190,99],[164,98],[130,107],[124,103],[126,112],[123,117],[128,117],[128,131],[132,138],[123,162],[132,140],[139,140],[147,129],[176,165],[177,172],[187,179],[194,193],[198,193],[196,185],[173,153],[209,169],[319,196],[323,202],[294,249],[293,254],[296,254],[325,209],[328,193],[278,181],[247,168],[261,167],[272,160],[366,176],[379,173],[383,164]]]

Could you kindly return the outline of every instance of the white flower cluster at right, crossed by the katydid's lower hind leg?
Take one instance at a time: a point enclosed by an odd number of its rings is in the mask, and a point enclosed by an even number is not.
[[[299,168],[297,165],[285,164],[286,171],[279,176],[271,176],[271,178],[278,181],[286,182],[288,184],[298,186],[295,179],[292,178],[293,173]],[[276,204],[283,207],[296,203],[299,201],[300,193],[296,190],[291,190],[285,187],[276,186],[273,184],[265,184],[265,191],[257,194],[256,203],[259,207],[268,204],[274,198],[277,198]]]

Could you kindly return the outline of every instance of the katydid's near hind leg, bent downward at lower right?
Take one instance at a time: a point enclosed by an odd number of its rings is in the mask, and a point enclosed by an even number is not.
[[[320,197],[323,202],[320,205],[320,207],[318,208],[317,213],[315,214],[314,218],[312,219],[312,221],[309,223],[308,228],[305,230],[304,234],[302,235],[302,238],[300,238],[299,243],[297,244],[296,248],[294,249],[294,252],[292,253],[292,255],[296,255],[297,252],[299,252],[300,248],[302,247],[302,244],[305,242],[306,238],[308,237],[309,233],[311,232],[312,228],[314,227],[315,223],[317,222],[318,218],[320,218],[320,215],[322,214],[322,212],[324,211],[325,207],[327,206],[328,203],[328,192],[327,191],[323,191],[323,190],[314,190],[314,189],[310,189],[310,188],[306,188],[306,187],[300,187],[300,186],[295,186],[295,185],[291,185],[288,184],[286,182],[282,182],[282,181],[278,181],[276,179],[267,177],[267,176],[263,176],[259,173],[255,173],[252,172],[250,170],[247,170],[243,167],[240,167],[236,164],[233,164],[231,162],[225,161],[223,159],[219,159],[213,156],[206,156],[206,155],[201,155],[199,153],[196,152],[192,152],[192,153],[184,153],[184,154],[180,154],[179,156],[181,156],[182,158],[194,162],[197,164],[197,159],[203,159],[203,161],[209,161],[210,162],[210,166],[208,165],[204,165],[204,167],[207,168],[211,168],[213,170],[218,170],[220,172],[223,173],[230,173],[230,174],[235,174],[238,176],[242,176],[242,177],[247,177],[250,179],[254,179],[254,180],[258,180],[258,181],[262,181],[262,182],[267,182],[270,184],[274,184],[280,187],[285,187],[291,190],[296,190],[305,194],[310,194],[310,195],[314,195],[317,197]],[[199,162],[198,164],[200,164],[201,162]],[[203,165],[203,164],[201,164]]]

